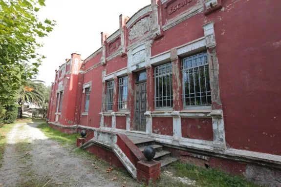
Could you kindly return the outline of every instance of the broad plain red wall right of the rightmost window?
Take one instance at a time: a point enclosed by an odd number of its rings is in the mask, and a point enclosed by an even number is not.
[[[223,0],[215,19],[227,145],[281,155],[281,1]]]

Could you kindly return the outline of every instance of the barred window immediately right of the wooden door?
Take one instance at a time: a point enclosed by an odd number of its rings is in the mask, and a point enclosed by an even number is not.
[[[172,62],[156,66],[155,77],[155,108],[173,107]]]

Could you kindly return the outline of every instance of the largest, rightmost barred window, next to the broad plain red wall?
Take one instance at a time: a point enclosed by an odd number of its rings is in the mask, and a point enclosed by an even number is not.
[[[184,106],[210,106],[211,87],[207,52],[182,60]]]

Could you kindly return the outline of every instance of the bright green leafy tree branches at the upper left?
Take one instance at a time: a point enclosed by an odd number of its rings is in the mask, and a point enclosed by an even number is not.
[[[0,0],[0,105],[14,104],[26,80],[35,78],[43,55],[37,40],[53,30],[55,21],[38,20],[45,0]],[[28,65],[28,71],[25,67]]]

